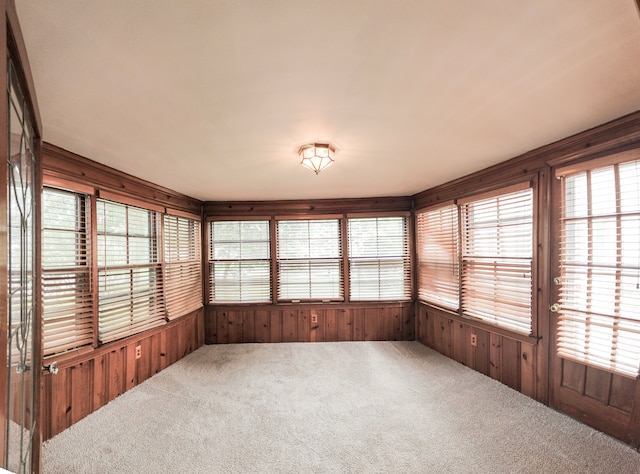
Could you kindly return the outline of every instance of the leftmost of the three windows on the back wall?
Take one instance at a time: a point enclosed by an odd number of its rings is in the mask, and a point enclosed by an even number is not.
[[[271,302],[268,220],[209,223],[209,302]]]

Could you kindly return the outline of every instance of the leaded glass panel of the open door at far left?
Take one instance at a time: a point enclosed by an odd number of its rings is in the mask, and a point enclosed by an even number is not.
[[[29,108],[14,63],[8,60],[8,343],[7,343],[7,444],[5,465],[16,473],[31,472],[35,438],[36,357],[35,294],[35,138]],[[37,333],[36,333],[37,335]]]

